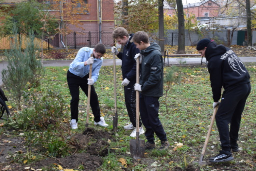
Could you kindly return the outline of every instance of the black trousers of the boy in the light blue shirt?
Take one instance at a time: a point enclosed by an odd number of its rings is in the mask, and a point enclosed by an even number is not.
[[[67,74],[69,91],[72,97],[70,101],[71,119],[76,119],[76,122],[78,121],[79,86],[84,91],[85,95],[88,96],[88,78],[89,74],[85,75],[83,78],[72,74],[70,71],[68,71]],[[93,85],[91,86],[90,106],[93,111],[94,121],[100,122],[100,105],[98,95]]]

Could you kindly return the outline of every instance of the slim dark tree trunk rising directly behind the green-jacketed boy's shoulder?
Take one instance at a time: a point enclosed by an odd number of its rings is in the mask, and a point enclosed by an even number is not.
[[[162,56],[165,55],[165,28],[163,25],[163,0],[158,0],[158,34]]]

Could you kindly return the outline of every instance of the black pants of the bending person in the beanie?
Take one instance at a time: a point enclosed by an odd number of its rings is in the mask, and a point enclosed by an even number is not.
[[[234,85],[223,92],[215,119],[224,151],[230,151],[230,146],[237,147],[241,116],[250,92],[250,83]]]

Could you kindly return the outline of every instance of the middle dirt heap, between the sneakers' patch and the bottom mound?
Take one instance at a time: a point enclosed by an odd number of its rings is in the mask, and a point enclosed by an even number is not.
[[[110,144],[103,140],[97,140],[97,142],[92,143],[90,146],[87,147],[87,153],[90,155],[99,155],[99,156],[106,156],[109,153],[108,146]]]

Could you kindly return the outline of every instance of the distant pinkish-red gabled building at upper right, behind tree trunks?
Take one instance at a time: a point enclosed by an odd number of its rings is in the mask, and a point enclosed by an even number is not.
[[[175,9],[166,3],[164,7],[164,12],[168,15],[175,15]],[[217,3],[208,0],[201,1],[197,3],[189,3],[187,5],[183,5],[184,14],[187,16],[191,16],[194,14],[197,18],[204,17],[217,17],[219,14],[220,5]]]

